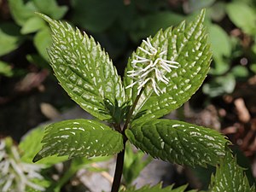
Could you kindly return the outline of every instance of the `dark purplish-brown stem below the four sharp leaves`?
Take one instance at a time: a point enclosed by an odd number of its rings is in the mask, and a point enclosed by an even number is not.
[[[123,166],[124,166],[124,160],[125,160],[125,143],[127,141],[127,138],[125,137],[125,135],[123,136],[124,136],[124,149],[117,156],[111,192],[119,191],[121,177],[123,174]]]

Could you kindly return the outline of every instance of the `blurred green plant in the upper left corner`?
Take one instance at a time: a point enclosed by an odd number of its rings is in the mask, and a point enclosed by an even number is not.
[[[0,25],[0,56],[18,49],[25,41],[32,40],[38,54],[27,54],[26,58],[38,67],[46,67],[46,48],[51,44],[49,26],[34,15],[42,12],[59,20],[67,13],[67,6],[59,6],[55,0],[9,0],[9,10],[15,22],[4,21]],[[0,61],[0,74],[11,77],[14,72],[9,63]]]

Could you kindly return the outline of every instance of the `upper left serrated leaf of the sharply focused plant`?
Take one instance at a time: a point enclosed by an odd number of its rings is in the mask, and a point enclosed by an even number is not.
[[[41,16],[53,32],[49,61],[61,86],[85,111],[101,120],[112,119],[104,100],[117,101],[122,106],[125,90],[108,54],[79,29],[75,31],[67,23]]]

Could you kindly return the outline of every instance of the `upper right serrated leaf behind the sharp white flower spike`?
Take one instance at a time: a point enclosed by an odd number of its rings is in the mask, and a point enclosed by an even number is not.
[[[210,45],[207,44],[206,29],[203,26],[204,15],[205,11],[203,10],[188,26],[182,22],[174,29],[169,27],[166,31],[160,30],[150,40],[155,49],[167,51],[166,60],[177,61],[179,67],[173,68],[170,73],[165,73],[166,79],[169,81],[168,84],[161,81],[156,82],[162,90],[165,90],[165,93],[160,96],[153,92],[152,86],[145,87],[134,111],[134,116],[142,111],[146,111],[146,113],[137,119],[137,123],[160,118],[180,107],[198,90],[206,78],[212,52]],[[147,49],[144,42],[141,48]],[[137,59],[136,55],[152,61],[159,56],[155,55],[153,58],[142,49],[137,49],[131,55],[125,70],[125,86],[134,83],[134,79],[128,77],[127,72],[134,70],[131,62]],[[138,84],[135,84],[132,88],[126,89],[126,95],[131,98],[131,102],[136,100],[137,88]]]

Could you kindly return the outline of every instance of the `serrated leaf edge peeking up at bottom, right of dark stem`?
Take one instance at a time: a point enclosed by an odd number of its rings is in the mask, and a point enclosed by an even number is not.
[[[176,189],[173,189],[174,184],[167,186],[166,188],[162,188],[162,184],[156,184],[153,187],[146,185],[141,189],[135,189],[135,187],[131,187],[130,189],[122,189],[119,192],[184,192],[187,188],[187,185],[183,185]]]

